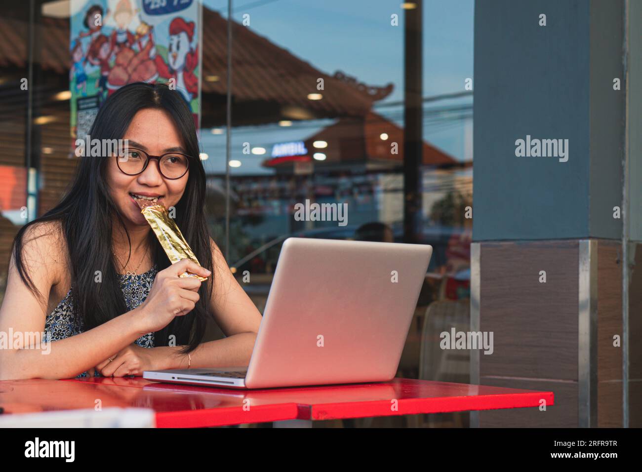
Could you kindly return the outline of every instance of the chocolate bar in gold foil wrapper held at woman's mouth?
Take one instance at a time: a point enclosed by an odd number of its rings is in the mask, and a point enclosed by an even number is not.
[[[175,264],[178,261],[182,261],[182,259],[189,259],[198,264],[198,259],[196,259],[174,220],[169,218],[167,209],[163,205],[156,205],[148,200],[136,200],[136,203],[141,207],[141,213],[143,213],[147,222],[150,223],[154,234],[169,258],[169,262]],[[200,281],[207,280],[207,277],[201,277],[191,272],[183,272],[178,277],[195,277]]]

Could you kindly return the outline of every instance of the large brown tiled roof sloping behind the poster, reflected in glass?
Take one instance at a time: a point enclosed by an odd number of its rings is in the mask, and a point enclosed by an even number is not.
[[[202,29],[205,104],[207,94],[226,93],[227,20],[204,7]],[[43,17],[35,36],[39,47],[34,57],[42,71],[67,74],[71,64],[69,19]],[[0,17],[0,67],[26,67],[27,38],[28,25],[24,21]],[[288,114],[301,119],[363,116],[374,101],[392,92],[392,83],[370,87],[345,78],[340,71],[326,74],[237,22],[233,23],[232,41],[234,105],[244,101],[273,103],[272,118],[287,118]],[[205,80],[209,76],[218,76],[218,80]],[[324,79],[323,91],[317,90],[319,78]],[[322,93],[324,98],[308,100],[309,93]]]

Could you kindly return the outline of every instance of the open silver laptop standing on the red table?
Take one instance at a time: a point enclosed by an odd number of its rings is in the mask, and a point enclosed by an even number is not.
[[[288,238],[247,367],[145,371],[143,378],[230,389],[392,380],[432,250]]]

